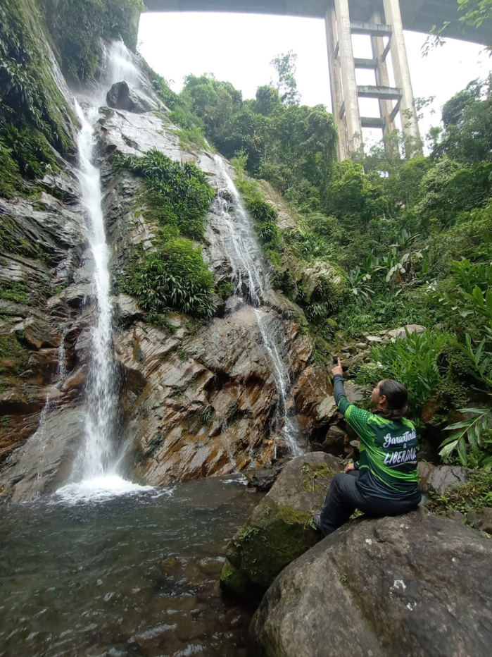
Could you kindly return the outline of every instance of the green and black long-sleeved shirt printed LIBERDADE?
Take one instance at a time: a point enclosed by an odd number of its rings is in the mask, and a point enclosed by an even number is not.
[[[335,400],[360,437],[358,487],[382,498],[420,496],[417,472],[417,432],[410,420],[390,420],[351,404],[341,392],[343,376],[335,376]],[[343,396],[342,396],[343,395]]]

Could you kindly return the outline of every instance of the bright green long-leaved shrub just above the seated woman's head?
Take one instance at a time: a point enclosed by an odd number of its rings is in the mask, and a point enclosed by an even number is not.
[[[410,413],[418,417],[441,382],[437,356],[453,342],[450,333],[427,329],[372,347],[372,362],[360,369],[357,381],[367,388],[374,388],[381,379],[403,383],[408,390]]]

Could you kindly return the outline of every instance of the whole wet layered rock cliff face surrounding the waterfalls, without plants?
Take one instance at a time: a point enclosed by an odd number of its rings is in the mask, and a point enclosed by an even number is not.
[[[54,58],[50,66],[60,80]],[[61,91],[73,106],[70,92],[65,86]],[[150,99],[149,107],[156,106],[160,111],[102,108],[96,130],[112,256],[121,467],[148,484],[227,474],[285,451],[279,391],[258,318],[279,345],[294,384],[291,415],[301,410],[295,383],[313,350],[301,330],[303,312],[274,290],[259,309],[231,297],[209,321],[169,314],[160,326],[149,324],[135,300],[119,293],[118,276],[132,249],[151,248],[156,226],[139,206],[141,180],[115,173],[113,154],[138,156],[157,148],[171,159],[195,161],[216,190],[224,185],[213,154],[182,149],[165,108]],[[0,490],[15,500],[67,481],[83,437],[96,319],[94,261],[76,163],[57,157],[61,171],[44,177],[36,198],[0,198],[7,231],[0,242],[0,282],[10,290],[0,295]],[[215,280],[224,281],[232,273],[227,225],[212,209],[208,219],[204,255]],[[253,257],[266,272],[259,250]],[[301,404],[305,423],[326,386],[317,388],[317,399]]]

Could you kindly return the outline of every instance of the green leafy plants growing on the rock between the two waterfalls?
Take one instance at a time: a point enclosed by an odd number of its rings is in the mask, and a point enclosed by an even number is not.
[[[210,317],[215,311],[213,274],[203,261],[201,247],[179,237],[203,238],[214,195],[205,174],[194,164],[172,161],[156,149],[144,157],[116,157],[115,168],[144,178],[144,216],[160,228],[151,254],[132,254],[120,288],[136,295],[151,319],[168,308]]]

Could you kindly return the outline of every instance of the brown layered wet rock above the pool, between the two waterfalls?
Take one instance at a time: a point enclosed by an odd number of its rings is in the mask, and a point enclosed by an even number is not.
[[[282,320],[271,309],[258,312],[286,358]],[[278,391],[258,312],[241,307],[190,335],[141,323],[120,333],[115,349],[127,381],[122,412],[131,477],[158,485],[272,460]]]

